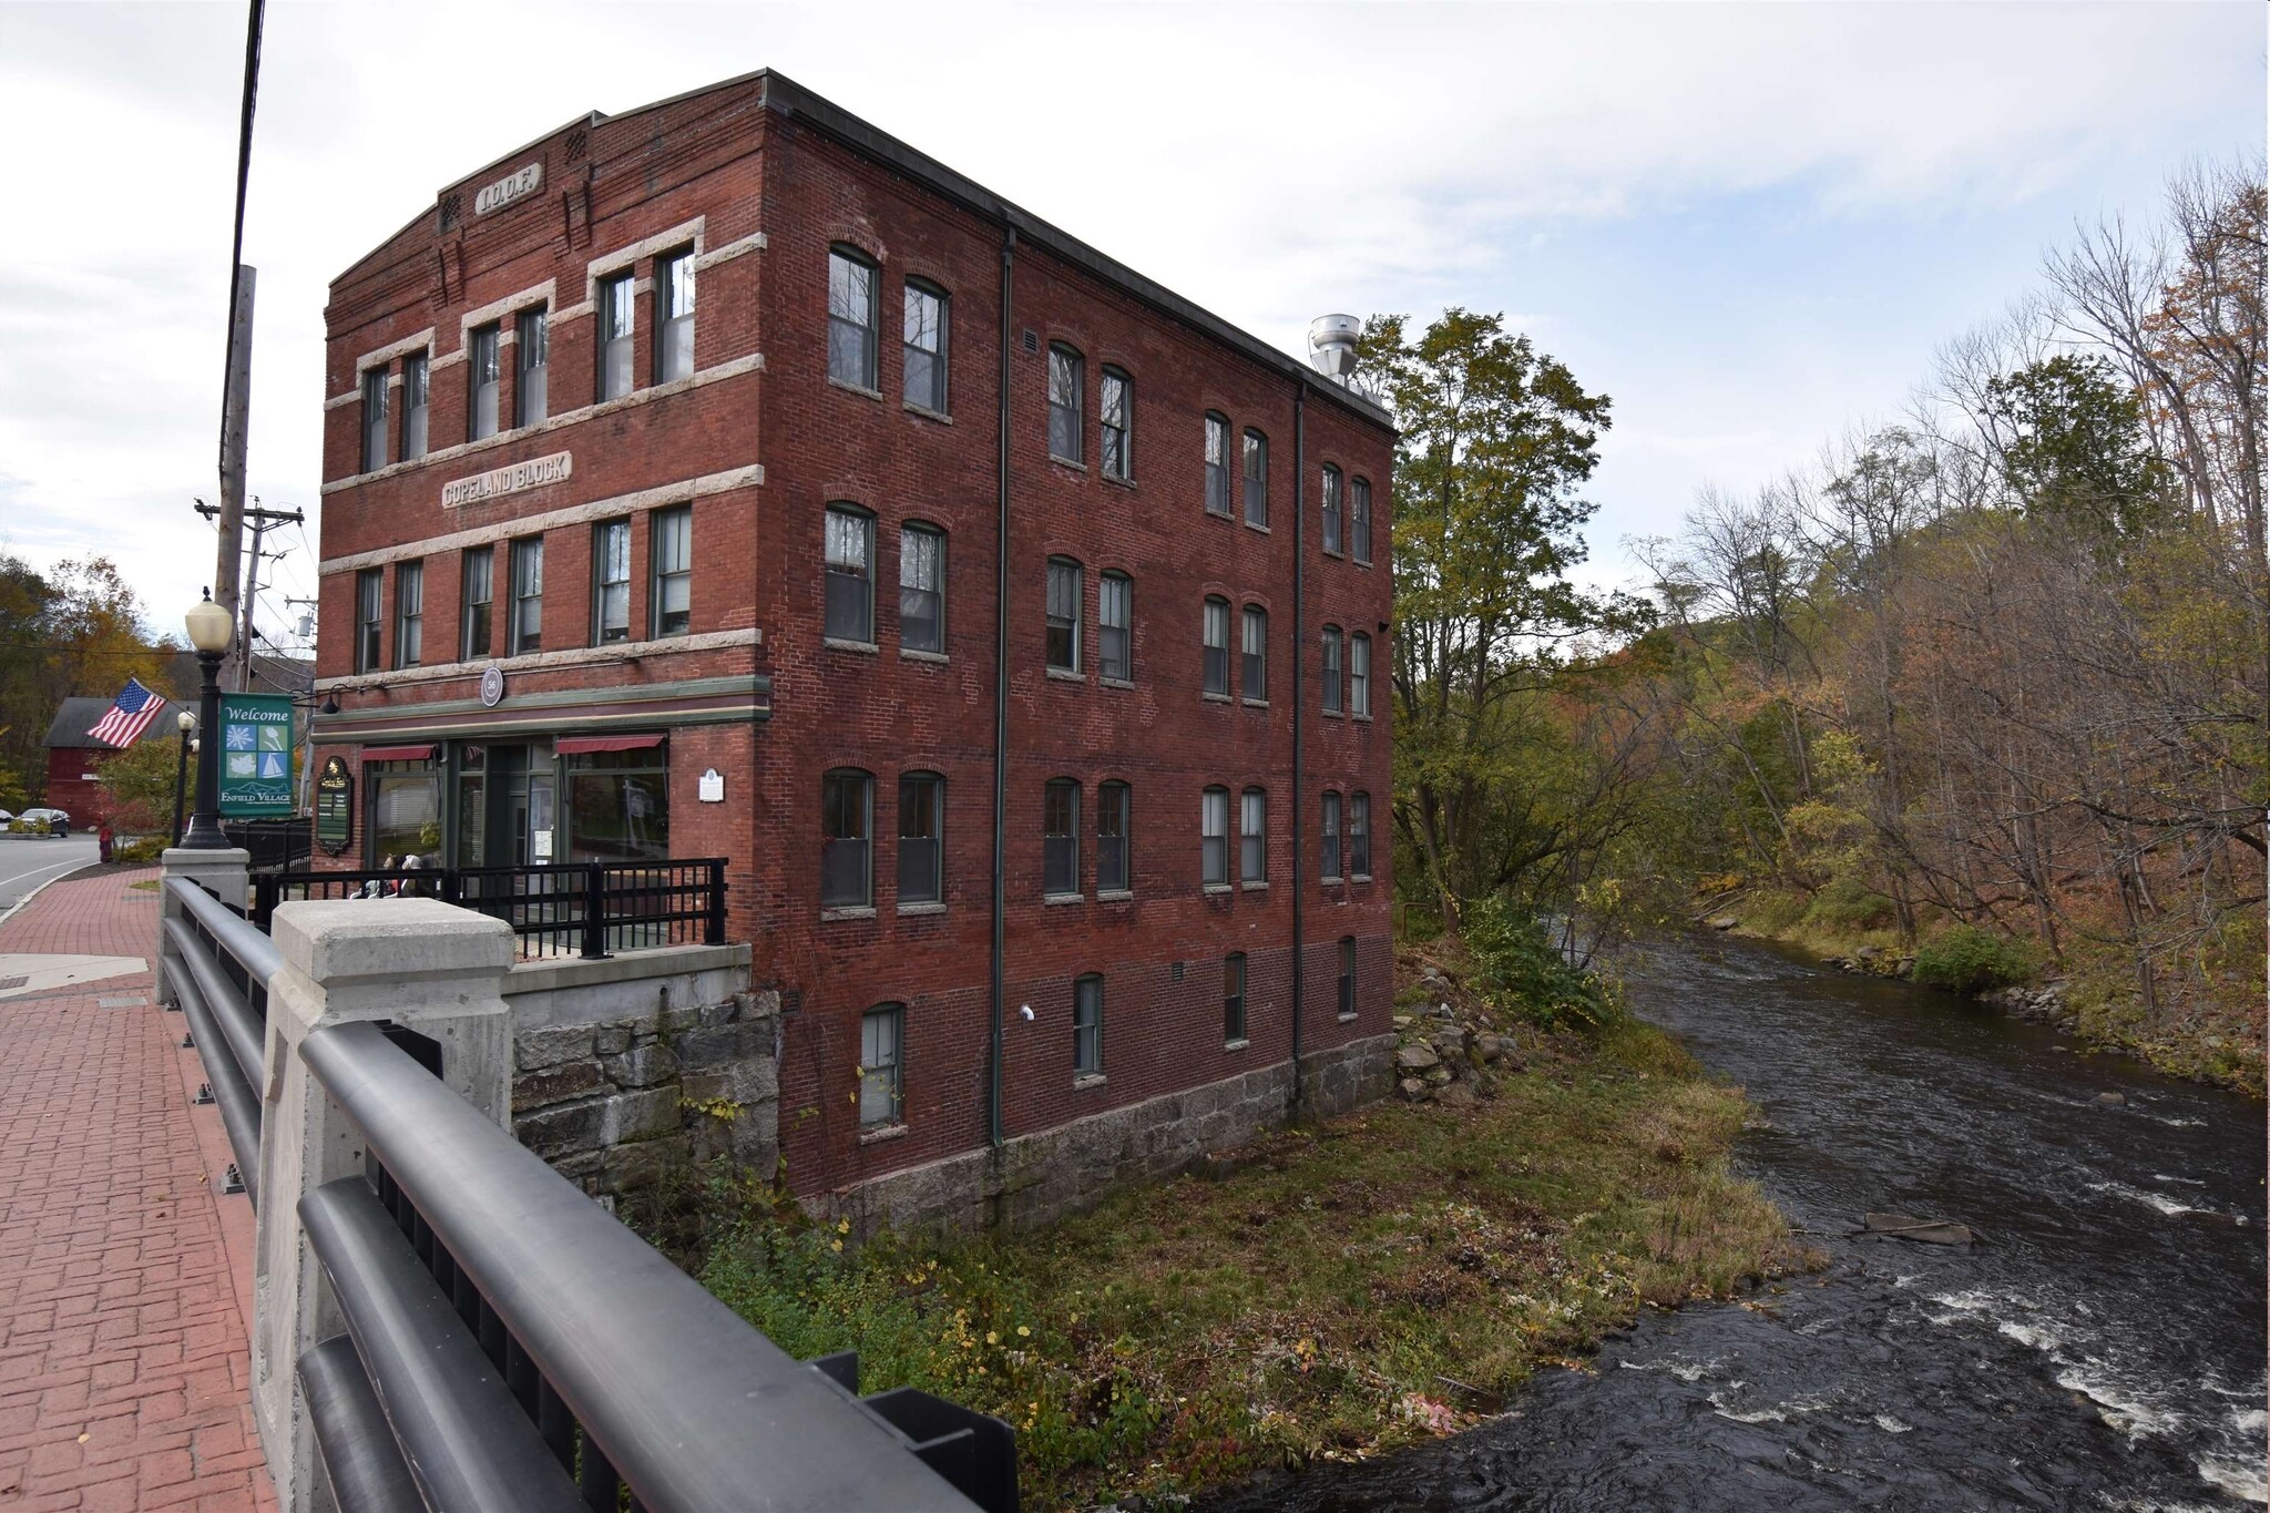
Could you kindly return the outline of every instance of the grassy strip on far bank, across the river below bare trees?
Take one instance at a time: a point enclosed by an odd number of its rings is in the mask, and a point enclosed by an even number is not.
[[[2116,944],[2068,941],[2063,960],[2050,962],[2036,946],[1986,930],[1934,921],[1918,930],[1920,946],[1905,941],[1886,916],[1889,901],[1852,907],[1823,889],[1816,898],[1796,891],[1752,889],[1718,901],[1698,901],[1709,919],[1732,916],[1737,932],[1793,946],[1825,960],[1864,960],[1884,975],[1932,980],[1934,950],[1975,969],[1973,991],[2041,987],[2057,991],[2054,1023],[2088,1046],[2132,1055],[2175,1077],[2263,1093],[2263,932],[2254,921],[2193,948],[2193,980],[2163,973],[2147,1003],[2138,989],[2136,957]],[[1911,973],[1911,964],[1920,971]],[[1945,984],[1945,987],[1952,987]],[[2038,1018],[2038,1014],[2034,1014]]]

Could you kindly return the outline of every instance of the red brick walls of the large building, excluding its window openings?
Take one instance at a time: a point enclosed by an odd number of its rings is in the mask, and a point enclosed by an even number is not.
[[[533,195],[477,213],[477,191],[543,163]],[[1010,234],[1015,231],[1015,238]],[[829,379],[829,254],[876,268],[876,388]],[[697,268],[692,377],[656,383],[654,263]],[[1008,306],[1008,426],[1003,374]],[[638,284],[636,390],[597,404],[597,281]],[[901,402],[908,279],[949,295],[949,413]],[[511,426],[513,315],[549,311],[549,420]],[[463,744],[565,733],[665,733],[672,855],[726,855],[729,937],[781,994],[779,1143],[799,1193],[874,1182],[990,1143],[994,1014],[994,778],[1006,785],[1001,1125],[1008,1141],[1169,1093],[1242,1080],[1301,1050],[1389,1030],[1385,832],[1389,792],[1389,467],[1382,411],[1167,290],[997,202],[856,118],[751,75],[627,116],[570,122],[443,191],[438,204],[331,286],[320,687],[343,715],[322,755],[434,744],[443,832],[461,823]],[[468,336],[502,320],[495,438],[465,442]],[[1031,343],[1028,343],[1031,333]],[[1083,358],[1085,467],[1049,456],[1051,345]],[[431,361],[429,454],[363,467],[363,372]],[[1133,379],[1130,481],[1099,463],[1103,367]],[[1203,417],[1269,438],[1269,529],[1205,510]],[[393,445],[400,417],[390,413]],[[388,449],[388,458],[397,456]],[[570,476],[443,504],[443,485],[570,454]],[[1006,456],[1008,522],[1001,524]],[[1371,485],[1371,565],[1326,553],[1323,467]],[[1233,456],[1235,470],[1235,456]],[[1235,481],[1233,481],[1235,495]],[[824,510],[874,517],[874,644],[822,637]],[[690,504],[692,624],[647,640],[649,515]],[[592,526],[631,517],[631,640],[592,646]],[[901,529],[944,531],[944,656],[901,651]],[[543,651],[506,656],[508,540],[545,540]],[[997,542],[1006,535],[1008,572]],[[488,656],[456,660],[468,547],[495,549]],[[1081,674],[1044,667],[1051,556],[1083,567]],[[397,669],[395,590],[424,563],[424,656]],[[381,660],[359,671],[356,576],[384,585]],[[1298,567],[1298,574],[1296,574]],[[1101,574],[1133,581],[1133,681],[1096,676]],[[997,581],[1008,583],[1006,646]],[[1296,601],[1298,581],[1298,601]],[[1269,612],[1269,699],[1201,694],[1201,606]],[[1323,626],[1371,637],[1371,719],[1319,708]],[[1006,651],[1006,751],[997,656]],[[506,696],[474,699],[495,662]],[[1303,783],[1294,792],[1294,728]],[[872,912],[819,905],[822,774],[872,787]],[[724,801],[697,801],[704,771]],[[897,907],[899,776],[944,780],[942,907]],[[1081,896],[1042,901],[1042,789],[1081,785]],[[1096,887],[1096,798],[1130,785],[1133,887]],[[1203,889],[1199,808],[1230,789],[1233,887]],[[1267,789],[1267,887],[1235,882],[1237,792]],[[368,785],[365,785],[368,787]],[[1323,794],[1371,794],[1369,880],[1319,880]],[[563,794],[565,808],[565,794]],[[1298,812],[1296,812],[1298,810]],[[565,817],[563,817],[565,819]],[[359,819],[359,826],[365,821]],[[1294,837],[1298,851],[1294,855]],[[452,842],[443,842],[445,846]],[[563,848],[574,839],[565,837]],[[375,862],[365,837],[338,864]],[[490,857],[497,860],[497,857]],[[1298,989],[1294,912],[1301,912]],[[1355,1014],[1337,1012],[1339,941],[1355,941]],[[1224,1041],[1224,955],[1248,957],[1242,1046]],[[1071,1000],[1103,978],[1101,1077],[1074,1077]],[[903,1123],[860,1130],[865,1009],[903,1005]],[[1022,1009],[1031,1007],[1033,1018]],[[1382,1041],[1385,1043],[1385,1041]],[[1283,1089],[1294,1080],[1280,1077]]]

